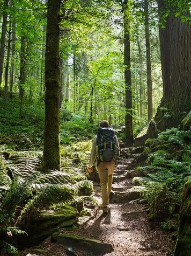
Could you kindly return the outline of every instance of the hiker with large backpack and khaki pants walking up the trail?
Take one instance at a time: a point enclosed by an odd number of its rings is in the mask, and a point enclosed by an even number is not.
[[[109,195],[112,191],[113,171],[116,165],[116,158],[120,155],[120,147],[117,137],[109,122],[104,120],[100,123],[98,134],[92,141],[89,168],[92,172],[93,163],[97,161],[97,170],[101,186],[102,211],[108,213]]]

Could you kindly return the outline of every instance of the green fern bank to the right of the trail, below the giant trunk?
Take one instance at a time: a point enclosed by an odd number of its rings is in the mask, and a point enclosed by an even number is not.
[[[163,227],[170,229],[170,222],[177,222],[182,188],[191,177],[190,163],[191,131],[167,129],[158,139],[149,139],[150,153],[144,167],[139,167],[142,178],[134,183],[144,187],[143,195],[148,200],[151,219],[165,220]],[[154,145],[154,146],[153,146]],[[157,146],[156,146],[157,145]],[[159,149],[167,145],[166,149]]]

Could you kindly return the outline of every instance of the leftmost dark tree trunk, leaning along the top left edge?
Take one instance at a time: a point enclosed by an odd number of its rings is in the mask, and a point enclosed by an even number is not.
[[[0,48],[0,87],[3,76],[3,63],[5,54],[5,37],[6,37],[6,20],[8,19],[8,3],[9,0],[4,2],[3,22],[2,22],[2,33],[1,33],[1,48]]]

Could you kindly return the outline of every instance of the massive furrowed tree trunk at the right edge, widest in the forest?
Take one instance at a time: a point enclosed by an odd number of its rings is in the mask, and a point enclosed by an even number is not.
[[[163,0],[158,0],[158,8],[159,15],[161,10],[170,9]],[[189,11],[185,14],[190,16]],[[191,26],[171,11],[165,28],[159,27],[159,36],[164,95],[153,120],[155,125],[148,129],[149,137],[156,136],[156,130],[178,127],[191,108]]]

